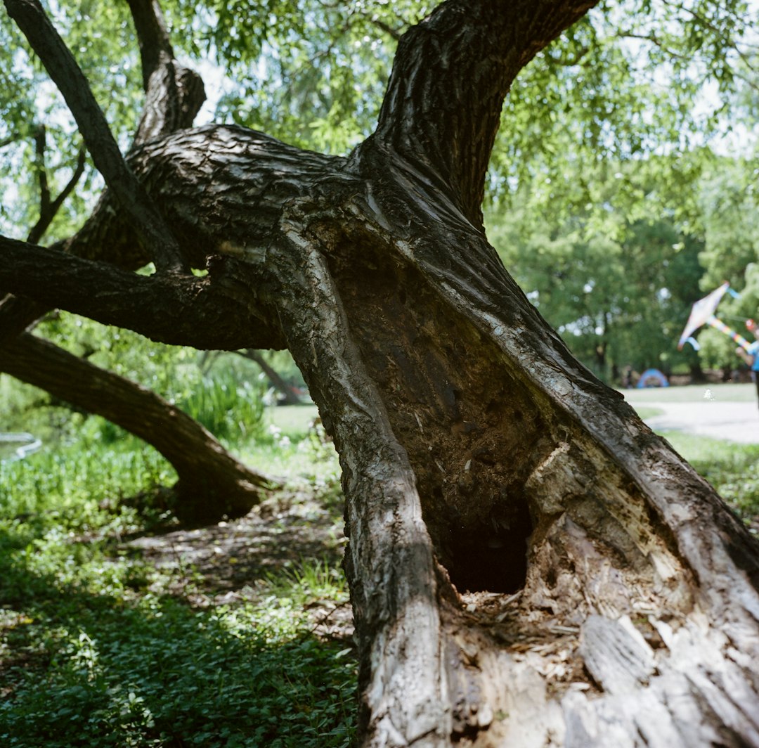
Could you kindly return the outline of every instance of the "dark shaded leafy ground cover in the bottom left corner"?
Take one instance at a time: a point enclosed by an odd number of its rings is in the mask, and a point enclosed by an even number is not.
[[[70,550],[64,565],[77,563]],[[298,626],[285,600],[261,614],[115,582],[92,592],[39,570],[34,554],[28,538],[0,530],[3,746],[350,743],[353,656]]]

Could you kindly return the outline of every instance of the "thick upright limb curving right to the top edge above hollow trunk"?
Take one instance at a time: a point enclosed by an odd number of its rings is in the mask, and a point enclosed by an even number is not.
[[[450,0],[398,44],[375,139],[480,226],[503,99],[527,62],[597,0]]]

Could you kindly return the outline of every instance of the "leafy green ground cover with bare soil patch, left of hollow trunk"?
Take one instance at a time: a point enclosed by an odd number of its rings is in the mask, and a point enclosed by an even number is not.
[[[237,522],[162,535],[146,532],[171,525],[160,508],[124,500],[172,482],[146,447],[76,443],[0,465],[0,745],[351,742],[334,453],[262,447],[291,466],[288,491]]]

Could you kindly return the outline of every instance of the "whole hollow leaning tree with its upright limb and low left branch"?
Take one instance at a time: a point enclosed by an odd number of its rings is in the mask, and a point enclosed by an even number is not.
[[[757,541],[482,229],[509,84],[591,5],[440,5],[347,159],[224,126],[143,144],[131,167],[213,258],[191,305],[0,243],[0,282],[45,304],[200,346],[238,314],[216,347],[291,350],[342,463],[364,746],[759,746]]]

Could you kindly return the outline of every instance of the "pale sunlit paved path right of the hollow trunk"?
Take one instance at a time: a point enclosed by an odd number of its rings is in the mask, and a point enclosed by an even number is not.
[[[653,399],[658,393],[676,395],[676,389],[657,390],[625,390],[625,399],[636,410],[644,409],[644,421],[654,431],[685,431],[688,434],[698,434],[743,444],[759,444],[759,406],[757,406],[754,385],[749,387],[752,399],[742,399],[736,402],[723,399],[720,387],[701,387],[701,397],[687,402]],[[688,388],[691,389],[691,388]],[[745,395],[745,393],[742,393]],[[726,391],[725,396],[732,395]],[[663,411],[660,415],[646,415],[646,410]]]

